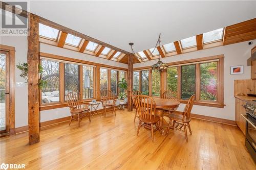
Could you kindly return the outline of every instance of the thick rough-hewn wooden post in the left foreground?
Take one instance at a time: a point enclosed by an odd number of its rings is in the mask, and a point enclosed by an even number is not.
[[[33,144],[39,142],[39,17],[30,13],[28,21],[28,124],[29,144]]]

